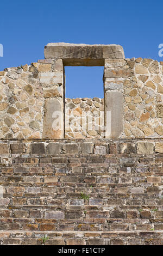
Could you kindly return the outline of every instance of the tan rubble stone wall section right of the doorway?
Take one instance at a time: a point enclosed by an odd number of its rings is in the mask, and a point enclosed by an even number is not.
[[[162,137],[162,64],[156,60],[142,58],[105,60],[106,105],[107,101],[111,101],[111,105],[114,105],[112,102],[116,102],[117,106],[109,107],[113,110],[115,108],[115,117],[119,115],[114,127],[116,128],[119,120],[123,125],[119,132],[120,137]],[[105,111],[107,109],[105,106]]]

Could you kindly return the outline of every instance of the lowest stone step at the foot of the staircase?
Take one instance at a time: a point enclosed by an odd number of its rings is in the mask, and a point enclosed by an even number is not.
[[[43,237],[48,237],[43,242]],[[0,231],[1,245],[163,245],[163,231]]]

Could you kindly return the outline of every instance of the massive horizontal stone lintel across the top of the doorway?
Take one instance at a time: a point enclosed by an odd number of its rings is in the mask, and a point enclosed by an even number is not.
[[[63,59],[64,65],[104,65],[104,59],[124,58],[120,45],[85,45],[57,42],[45,46],[45,58]]]

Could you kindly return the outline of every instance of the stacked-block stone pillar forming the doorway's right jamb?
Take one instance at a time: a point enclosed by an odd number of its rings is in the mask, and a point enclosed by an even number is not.
[[[105,59],[105,138],[118,138],[123,132],[123,79],[131,76],[125,65],[124,59]]]

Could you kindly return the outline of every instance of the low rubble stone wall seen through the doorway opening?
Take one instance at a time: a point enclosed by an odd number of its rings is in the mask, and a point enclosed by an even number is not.
[[[65,138],[104,138],[104,99],[66,99]]]

